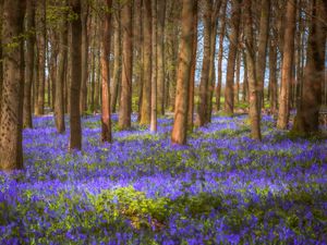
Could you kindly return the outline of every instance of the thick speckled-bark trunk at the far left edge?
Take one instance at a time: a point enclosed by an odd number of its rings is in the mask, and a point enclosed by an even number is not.
[[[3,90],[0,124],[0,169],[23,168],[24,0],[3,1]]]

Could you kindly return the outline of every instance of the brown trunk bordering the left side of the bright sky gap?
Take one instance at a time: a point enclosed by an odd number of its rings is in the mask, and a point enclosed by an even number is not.
[[[202,73],[199,82],[199,102],[197,109],[197,124],[203,126],[207,123],[208,97],[209,97],[209,81],[210,76],[210,56],[211,56],[211,12],[213,0],[204,1],[204,54],[202,63]]]

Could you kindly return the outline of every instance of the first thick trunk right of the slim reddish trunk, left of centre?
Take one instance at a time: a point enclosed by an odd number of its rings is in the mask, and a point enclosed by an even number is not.
[[[119,127],[131,127],[132,113],[132,70],[133,70],[133,44],[132,44],[132,3],[126,2],[122,9],[122,84],[119,107]]]

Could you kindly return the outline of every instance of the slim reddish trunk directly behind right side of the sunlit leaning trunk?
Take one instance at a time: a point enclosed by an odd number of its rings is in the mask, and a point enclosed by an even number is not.
[[[195,70],[196,70],[196,53],[197,53],[197,1],[193,5],[193,51],[192,66],[189,86],[189,109],[187,109],[187,128],[193,131],[194,120],[194,88],[195,88]]]

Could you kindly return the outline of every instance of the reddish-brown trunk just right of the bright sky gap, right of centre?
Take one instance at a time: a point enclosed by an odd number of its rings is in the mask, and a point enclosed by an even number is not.
[[[232,114],[234,110],[234,70],[235,59],[238,53],[238,41],[240,30],[240,16],[241,16],[241,0],[232,0],[232,13],[231,13],[231,34],[227,63],[226,74],[226,88],[225,88],[225,112]]]

